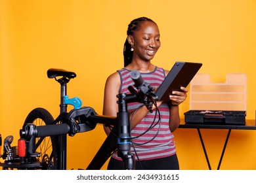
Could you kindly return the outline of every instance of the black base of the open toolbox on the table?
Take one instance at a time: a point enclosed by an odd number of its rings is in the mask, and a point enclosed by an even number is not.
[[[186,124],[245,125],[246,111],[189,110],[184,116]]]

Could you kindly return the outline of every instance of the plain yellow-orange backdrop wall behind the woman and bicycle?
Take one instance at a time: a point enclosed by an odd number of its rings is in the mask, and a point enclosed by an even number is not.
[[[203,63],[199,73],[224,82],[247,74],[247,119],[255,120],[256,1],[254,0],[0,0],[0,133],[14,135],[27,114],[44,107],[58,115],[60,86],[47,69],[74,71],[68,95],[102,114],[104,83],[123,67],[127,25],[147,16],[160,27],[155,65]],[[189,88],[188,88],[189,89]],[[181,118],[189,108],[181,107]],[[225,130],[203,130],[212,168],[217,168]],[[101,125],[68,137],[67,169],[85,169],[104,141]],[[196,129],[175,131],[181,169],[207,169]],[[256,169],[256,131],[232,131],[221,169]],[[3,151],[3,150],[2,150]],[[106,168],[104,165],[103,169]]]

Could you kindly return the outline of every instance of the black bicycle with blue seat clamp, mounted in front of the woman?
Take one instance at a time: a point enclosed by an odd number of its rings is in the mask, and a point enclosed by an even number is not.
[[[127,103],[140,102],[152,112],[156,95],[153,88],[143,81],[138,71],[131,72],[135,87],[129,86],[130,94],[117,95],[117,117],[98,115],[91,107],[81,107],[78,97],[68,98],[67,84],[75,78],[74,72],[63,69],[49,69],[48,78],[54,78],[60,84],[60,114],[56,119],[45,108],[34,108],[27,116],[17,147],[11,147],[12,137],[4,142],[4,155],[12,153],[11,158],[0,163],[3,169],[66,169],[67,135],[73,137],[95,129],[96,124],[112,127],[102,146],[92,159],[87,169],[100,169],[113,152],[118,153],[126,169],[134,169],[134,158],[131,154],[131,129]],[[74,109],[67,111],[68,105]],[[23,152],[23,153],[20,153]]]

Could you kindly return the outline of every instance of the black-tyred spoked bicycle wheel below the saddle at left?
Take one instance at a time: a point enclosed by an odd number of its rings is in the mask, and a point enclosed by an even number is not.
[[[34,124],[36,126],[53,124],[53,116],[45,108],[35,108],[28,114],[24,125]],[[58,136],[37,137],[35,139],[35,151],[40,153],[37,159],[41,162],[39,169],[54,170],[58,169],[59,159]]]

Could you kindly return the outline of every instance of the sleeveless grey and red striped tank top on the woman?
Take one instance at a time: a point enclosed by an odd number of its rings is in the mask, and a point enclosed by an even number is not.
[[[117,72],[121,78],[119,93],[130,93],[128,87],[134,85],[130,76],[131,71],[123,68]],[[151,73],[140,74],[143,80],[153,88],[159,87],[165,78],[165,71],[159,67],[156,67]],[[136,110],[140,106],[142,106],[142,103],[127,104],[129,112]],[[160,115],[156,110],[152,113],[148,112],[140,123],[131,130],[131,137],[133,138],[131,152],[136,160],[138,160],[138,157],[139,160],[165,158],[176,153],[173,134],[169,129],[169,105],[162,103],[158,108]],[[116,153],[112,157],[121,160]]]

